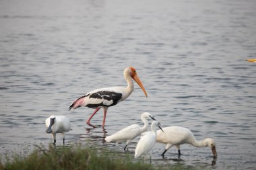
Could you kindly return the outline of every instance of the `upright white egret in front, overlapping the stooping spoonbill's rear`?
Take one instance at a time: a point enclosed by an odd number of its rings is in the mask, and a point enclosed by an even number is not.
[[[135,148],[135,158],[150,153],[151,161],[151,150],[156,143],[156,128],[158,127],[160,128],[160,130],[162,130],[162,128],[160,127],[160,123],[158,121],[153,121],[151,124],[151,132],[146,132],[143,136],[141,136]]]

